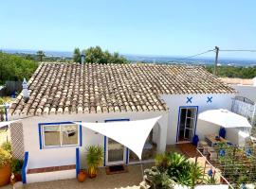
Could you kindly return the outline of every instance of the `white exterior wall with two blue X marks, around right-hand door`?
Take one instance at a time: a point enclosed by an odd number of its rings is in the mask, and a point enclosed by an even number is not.
[[[212,102],[207,103],[208,97],[212,96]],[[161,95],[161,98],[167,103],[169,111],[169,122],[167,130],[167,145],[176,143],[177,124],[179,116],[179,107],[198,106],[198,113],[212,109],[231,109],[231,98],[234,94],[174,94]],[[192,97],[192,103],[186,103],[187,97]],[[219,127],[210,123],[197,120],[196,134],[199,139],[204,140],[206,134],[218,133]]]

